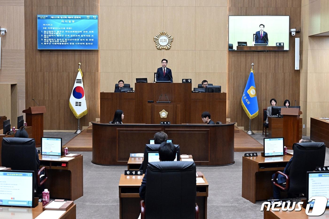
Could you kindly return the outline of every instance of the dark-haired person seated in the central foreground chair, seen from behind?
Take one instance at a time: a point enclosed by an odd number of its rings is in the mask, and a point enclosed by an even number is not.
[[[162,142],[159,147],[159,159],[160,161],[174,161],[176,158],[176,148],[173,143]],[[139,187],[139,196],[142,199],[145,199],[146,191],[146,173],[143,177],[142,184]]]

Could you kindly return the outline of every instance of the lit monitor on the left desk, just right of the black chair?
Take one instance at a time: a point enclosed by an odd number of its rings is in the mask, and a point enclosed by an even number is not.
[[[41,137],[41,155],[62,155],[62,138]]]

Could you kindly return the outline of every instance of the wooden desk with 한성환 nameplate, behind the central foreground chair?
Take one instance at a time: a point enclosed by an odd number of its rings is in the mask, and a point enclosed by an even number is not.
[[[121,174],[119,181],[120,219],[138,218],[139,215],[139,187],[143,176],[125,176]],[[208,181],[196,184],[196,204],[199,206],[199,218],[207,218]]]

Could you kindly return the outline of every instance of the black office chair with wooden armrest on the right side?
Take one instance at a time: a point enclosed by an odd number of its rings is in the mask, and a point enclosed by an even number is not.
[[[293,158],[289,175],[278,171],[273,184],[291,194],[306,194],[306,172],[314,171],[317,166],[324,166],[326,146],[323,142],[295,143],[292,146]],[[278,175],[286,177],[286,184],[277,182]],[[298,196],[297,196],[298,197]]]

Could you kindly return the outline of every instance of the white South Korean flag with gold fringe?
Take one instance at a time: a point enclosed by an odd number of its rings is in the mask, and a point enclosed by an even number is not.
[[[77,119],[88,113],[85,90],[83,89],[82,71],[80,68],[78,69],[78,75],[72,89],[69,106]]]

